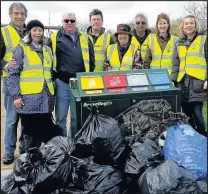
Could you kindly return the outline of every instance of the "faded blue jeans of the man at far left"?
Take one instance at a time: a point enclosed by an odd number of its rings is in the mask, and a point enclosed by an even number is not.
[[[5,122],[5,137],[4,137],[4,151],[6,154],[13,154],[16,149],[17,142],[17,125],[19,121],[19,115],[14,110],[13,99],[10,95],[4,94],[4,106],[6,109],[6,122]],[[23,138],[22,127],[19,139],[19,152],[23,152]]]

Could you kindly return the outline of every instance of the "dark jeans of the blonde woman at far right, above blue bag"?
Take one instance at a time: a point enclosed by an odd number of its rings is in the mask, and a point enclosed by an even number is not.
[[[203,102],[182,102],[181,105],[183,112],[190,117],[189,124],[200,134],[207,136],[202,114]]]

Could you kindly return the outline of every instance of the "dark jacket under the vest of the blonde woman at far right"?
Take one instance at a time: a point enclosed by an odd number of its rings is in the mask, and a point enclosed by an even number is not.
[[[192,40],[188,40],[187,38],[181,38],[177,44],[178,45],[186,45],[187,49],[191,45],[191,43],[196,39],[196,37],[199,34],[196,34]],[[188,102],[201,102],[201,101],[207,101],[207,90],[203,90],[204,81],[199,80],[197,78],[194,78],[192,76],[189,76],[188,74],[185,74],[183,79],[177,83],[177,77],[179,73],[179,67],[180,67],[180,59],[176,52],[173,56],[173,69],[171,74],[171,80],[175,83],[175,86],[182,89],[182,100],[188,101]],[[205,52],[205,58],[207,62],[207,39],[204,44],[204,52]]]

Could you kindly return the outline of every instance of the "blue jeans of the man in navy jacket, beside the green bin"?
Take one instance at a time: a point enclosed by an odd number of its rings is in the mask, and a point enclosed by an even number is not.
[[[71,90],[69,85],[59,79],[56,80],[56,102],[55,102],[55,117],[56,124],[62,129],[61,135],[67,136],[67,115],[70,105],[70,94]],[[71,129],[69,126],[69,134],[70,136]]]

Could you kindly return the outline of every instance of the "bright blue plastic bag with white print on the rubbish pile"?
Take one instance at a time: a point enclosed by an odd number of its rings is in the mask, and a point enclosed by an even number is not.
[[[207,179],[207,138],[190,125],[168,128],[163,153],[165,160],[174,160],[197,175],[198,180]]]

